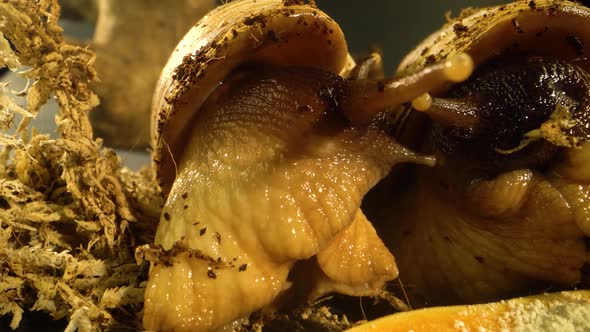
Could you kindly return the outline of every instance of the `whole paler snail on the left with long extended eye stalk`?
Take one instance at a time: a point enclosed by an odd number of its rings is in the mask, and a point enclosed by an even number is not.
[[[361,200],[394,165],[433,159],[398,144],[375,114],[466,79],[472,62],[457,54],[375,80],[378,63],[355,67],[313,2],[233,1],[186,34],[153,98],[166,203],[155,245],[139,251],[151,261],[146,329],[231,327],[292,290],[367,295],[395,279]],[[309,266],[301,282],[297,262]]]

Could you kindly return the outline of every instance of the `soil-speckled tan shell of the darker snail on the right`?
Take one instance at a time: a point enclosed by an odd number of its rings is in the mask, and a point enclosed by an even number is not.
[[[588,54],[584,47],[589,34],[587,12],[587,7],[560,0],[468,9],[406,55],[398,73],[415,72],[458,52],[468,52],[476,65],[522,52],[570,60],[581,58]]]

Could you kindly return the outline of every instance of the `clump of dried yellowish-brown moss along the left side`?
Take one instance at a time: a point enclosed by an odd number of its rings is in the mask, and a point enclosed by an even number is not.
[[[24,107],[0,94],[0,315],[12,328],[42,310],[67,317],[66,331],[134,330],[146,271],[133,251],[152,241],[160,196],[150,170],[123,168],[93,138],[94,54],[64,42],[59,11],[56,0],[0,3],[0,66],[31,83]],[[29,137],[50,96],[58,138]]]

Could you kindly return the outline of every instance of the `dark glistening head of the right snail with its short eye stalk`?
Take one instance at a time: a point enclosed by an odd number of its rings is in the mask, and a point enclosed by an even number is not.
[[[423,94],[412,105],[432,119],[439,156],[491,175],[544,167],[590,140],[590,75],[552,58],[493,60],[445,98]]]

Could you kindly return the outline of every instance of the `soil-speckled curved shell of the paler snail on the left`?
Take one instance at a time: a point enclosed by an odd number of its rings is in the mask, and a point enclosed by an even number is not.
[[[164,195],[174,182],[185,128],[220,82],[248,62],[335,74],[351,67],[342,30],[318,9],[264,0],[235,1],[210,12],[176,47],[155,89],[153,166]]]

